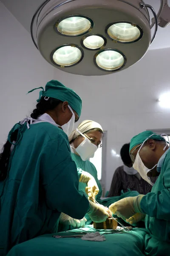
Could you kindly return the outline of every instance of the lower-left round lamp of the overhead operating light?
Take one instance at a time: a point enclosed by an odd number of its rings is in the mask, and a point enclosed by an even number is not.
[[[51,59],[60,67],[71,67],[83,58],[83,51],[76,45],[62,45],[51,53]]]

